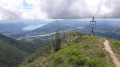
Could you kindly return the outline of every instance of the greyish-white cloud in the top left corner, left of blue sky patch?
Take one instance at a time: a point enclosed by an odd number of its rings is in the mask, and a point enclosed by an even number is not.
[[[0,20],[21,19],[22,0],[0,0]]]

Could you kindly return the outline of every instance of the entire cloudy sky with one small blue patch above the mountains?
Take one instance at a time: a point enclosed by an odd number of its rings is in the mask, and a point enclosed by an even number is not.
[[[0,20],[120,18],[120,0],[0,0]]]

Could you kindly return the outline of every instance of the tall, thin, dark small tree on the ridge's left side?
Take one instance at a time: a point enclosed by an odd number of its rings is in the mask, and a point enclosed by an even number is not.
[[[61,43],[62,43],[62,40],[61,40],[60,26],[59,26],[56,31],[55,40],[53,42],[54,51],[60,50]]]

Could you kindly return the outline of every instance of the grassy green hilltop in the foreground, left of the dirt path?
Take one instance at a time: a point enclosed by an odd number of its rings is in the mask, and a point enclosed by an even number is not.
[[[39,48],[19,67],[115,67],[103,42],[102,37],[67,32],[59,51],[54,52],[52,46]]]

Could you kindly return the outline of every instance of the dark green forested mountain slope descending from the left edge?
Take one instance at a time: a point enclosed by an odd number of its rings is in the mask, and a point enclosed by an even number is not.
[[[43,42],[21,42],[0,34],[0,67],[17,67],[23,59],[33,53]]]

